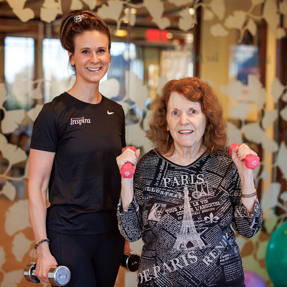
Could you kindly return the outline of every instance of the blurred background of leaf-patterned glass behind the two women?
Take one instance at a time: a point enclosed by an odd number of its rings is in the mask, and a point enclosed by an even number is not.
[[[96,11],[112,31],[100,92],[123,106],[127,145],[141,155],[152,148],[149,105],[168,80],[197,76],[221,95],[229,144],[245,142],[261,159],[253,173],[263,224],[236,239],[244,270],[274,286],[266,250],[287,218],[287,0],[0,0],[0,287],[32,286],[23,276],[35,244],[30,136],[42,105],[73,84],[58,40],[73,9]],[[138,254],[141,247],[141,239],[131,244]],[[115,286],[137,286],[136,278],[120,268]]]

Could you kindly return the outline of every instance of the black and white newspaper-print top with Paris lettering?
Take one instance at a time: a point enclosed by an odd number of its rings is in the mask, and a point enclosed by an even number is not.
[[[262,223],[258,200],[249,214],[227,148],[177,166],[155,151],[144,155],[134,177],[134,198],[119,203],[121,233],[142,236],[138,282],[144,286],[212,286],[243,275],[234,230],[252,237]]]

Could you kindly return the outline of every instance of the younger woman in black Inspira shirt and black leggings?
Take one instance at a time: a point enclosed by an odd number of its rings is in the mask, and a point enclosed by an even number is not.
[[[117,226],[116,157],[126,144],[122,107],[99,92],[110,63],[110,30],[92,11],[70,11],[60,39],[76,80],[44,104],[33,127],[28,189],[39,243],[35,273],[49,283],[49,269],[66,265],[67,286],[113,287],[125,244]]]

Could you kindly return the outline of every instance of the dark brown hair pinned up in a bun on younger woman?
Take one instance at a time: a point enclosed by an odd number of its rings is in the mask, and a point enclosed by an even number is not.
[[[76,16],[82,15],[81,21],[75,22]],[[69,60],[75,53],[75,37],[85,32],[98,31],[108,37],[108,51],[110,53],[111,35],[106,23],[96,13],[90,10],[72,10],[67,12],[60,24],[60,40],[62,47],[71,53]],[[73,71],[76,70],[70,61],[69,65]]]

